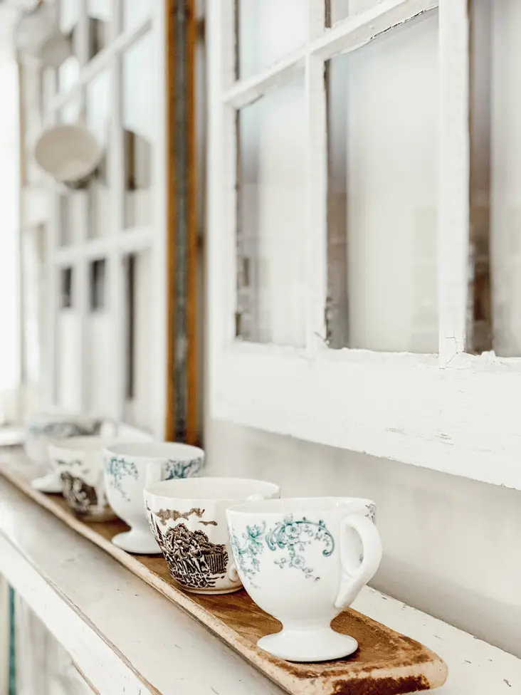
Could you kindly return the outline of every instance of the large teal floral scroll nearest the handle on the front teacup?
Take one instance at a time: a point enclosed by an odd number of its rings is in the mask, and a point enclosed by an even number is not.
[[[293,515],[286,516],[284,521],[279,521],[275,528],[266,534],[266,544],[270,550],[288,550],[288,557],[274,560],[275,565],[281,569],[296,568],[304,573],[306,579],[317,582],[320,577],[315,576],[313,568],[309,567],[305,560],[306,546],[315,541],[324,543],[322,555],[326,558],[332,555],[335,550],[335,540],[325,523],[322,520],[309,521],[305,517],[293,521]]]

